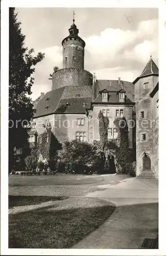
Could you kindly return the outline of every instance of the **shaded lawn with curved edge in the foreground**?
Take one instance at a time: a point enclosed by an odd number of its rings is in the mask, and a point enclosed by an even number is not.
[[[21,198],[13,198],[12,205],[41,202],[41,197]],[[55,205],[9,215],[9,248],[71,248],[103,224],[115,209],[111,203],[95,198],[51,200]]]

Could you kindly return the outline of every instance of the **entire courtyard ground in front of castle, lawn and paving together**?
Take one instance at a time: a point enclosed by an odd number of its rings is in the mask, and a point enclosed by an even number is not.
[[[156,179],[9,177],[10,248],[142,248],[157,234]]]

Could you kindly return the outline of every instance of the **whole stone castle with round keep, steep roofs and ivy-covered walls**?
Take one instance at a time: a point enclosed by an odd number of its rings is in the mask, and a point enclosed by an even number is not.
[[[30,143],[41,141],[45,127],[63,143],[99,140],[98,114],[109,119],[108,139],[117,137],[116,117],[128,122],[129,148],[136,146],[136,175],[158,178],[158,68],[150,57],[133,82],[98,80],[84,69],[86,43],[73,24],[62,40],[63,68],[51,75],[52,90],[34,102]],[[135,123],[132,125],[132,120]]]

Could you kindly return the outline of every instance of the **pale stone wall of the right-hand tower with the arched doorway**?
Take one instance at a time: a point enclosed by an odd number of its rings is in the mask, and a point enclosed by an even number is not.
[[[135,113],[136,113],[136,174],[143,172],[144,152],[151,159],[151,169],[154,166],[154,145],[153,145],[153,115],[152,98],[150,92],[156,85],[157,77],[149,76],[141,78],[135,83]],[[149,89],[144,90],[144,83],[149,82]],[[155,84],[154,84],[155,82]],[[141,112],[144,111],[144,118],[141,118]],[[146,140],[142,141],[142,134],[146,134]]]

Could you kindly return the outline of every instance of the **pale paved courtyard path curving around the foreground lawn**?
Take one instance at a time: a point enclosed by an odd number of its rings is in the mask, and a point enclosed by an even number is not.
[[[91,197],[116,204],[113,215],[73,248],[142,248],[145,238],[157,237],[156,179],[127,175],[81,177],[22,177],[22,183],[21,178],[10,177],[9,195],[80,197],[80,200],[81,197]]]

